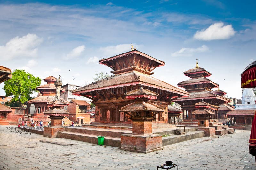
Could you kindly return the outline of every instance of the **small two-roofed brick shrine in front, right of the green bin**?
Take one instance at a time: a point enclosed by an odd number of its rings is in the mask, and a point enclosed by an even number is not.
[[[141,86],[140,89],[127,92],[125,96],[135,102],[120,109],[132,120],[132,134],[121,136],[121,149],[141,153],[161,149],[162,136],[152,134],[152,120],[155,120],[155,115],[163,112],[164,108],[148,101],[156,100],[158,95]]]

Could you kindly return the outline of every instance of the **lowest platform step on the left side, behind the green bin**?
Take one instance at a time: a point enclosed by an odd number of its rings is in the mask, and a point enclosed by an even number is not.
[[[64,132],[58,132],[58,138],[66,138],[66,139],[72,139],[72,140],[78,140],[78,141],[98,144],[98,135],[64,131]],[[105,136],[104,137],[104,145],[113,146],[113,147],[121,147],[121,138]]]

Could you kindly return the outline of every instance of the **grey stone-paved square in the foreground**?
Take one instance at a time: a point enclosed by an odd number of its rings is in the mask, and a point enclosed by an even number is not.
[[[248,150],[251,131],[197,138],[143,154],[33,133],[15,134],[6,127],[0,126],[0,169],[4,170],[156,169],[168,160],[178,169],[256,169]]]

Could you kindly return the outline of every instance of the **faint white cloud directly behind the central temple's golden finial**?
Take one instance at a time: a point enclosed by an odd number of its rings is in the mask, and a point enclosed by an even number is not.
[[[134,48],[137,47],[138,45],[133,44]],[[121,53],[125,53],[131,50],[131,45],[130,44],[119,44],[116,46],[106,46],[106,47],[100,47],[100,51],[104,54],[107,55],[106,57],[110,57],[111,55],[117,55]]]

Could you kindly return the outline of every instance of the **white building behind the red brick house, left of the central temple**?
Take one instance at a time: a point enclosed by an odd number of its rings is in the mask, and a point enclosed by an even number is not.
[[[74,84],[65,84],[63,86],[61,86],[63,89],[65,89],[65,92],[60,93],[60,98],[67,100],[68,102],[70,102],[72,99],[77,99],[77,100],[84,100],[87,103],[91,104],[91,101],[84,97],[84,96],[76,96],[76,95],[72,95],[72,90],[78,89],[81,86],[77,86]]]

